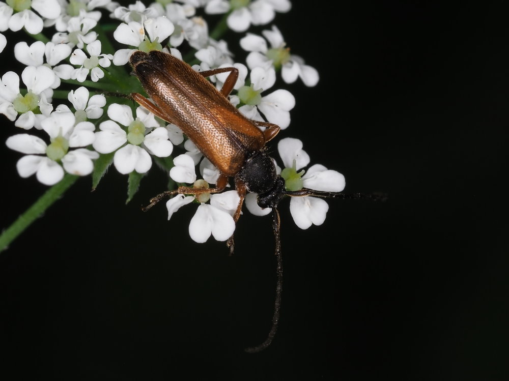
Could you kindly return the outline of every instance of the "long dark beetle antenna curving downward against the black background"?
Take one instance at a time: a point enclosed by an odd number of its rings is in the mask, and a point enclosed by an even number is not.
[[[281,256],[281,238],[279,235],[280,231],[280,219],[279,219],[279,212],[277,208],[272,208],[272,229],[274,230],[274,239],[276,241],[276,250],[275,250],[275,256],[277,260],[277,284],[276,284],[276,300],[274,303],[274,315],[272,316],[272,328],[270,329],[269,334],[267,335],[267,338],[263,343],[257,346],[248,347],[244,350],[247,353],[257,353],[265,348],[267,348],[270,343],[272,342],[272,339],[274,338],[274,335],[277,331],[277,323],[279,322],[279,311],[281,309],[281,290],[283,286],[283,267],[282,267],[282,256]]]

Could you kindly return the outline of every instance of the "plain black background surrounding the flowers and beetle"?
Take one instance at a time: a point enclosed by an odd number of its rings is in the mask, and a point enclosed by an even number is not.
[[[0,254],[7,379],[508,379],[507,3],[294,3],[274,22],[321,79],[287,87],[277,138],[389,199],[329,200],[307,230],[281,202],[280,324],[251,355],[273,311],[270,217],[245,213],[230,257],[189,238],[193,208],[140,211],[163,173],[127,206],[115,169],[95,192],[80,179]],[[46,187],[3,152],[6,227]]]

